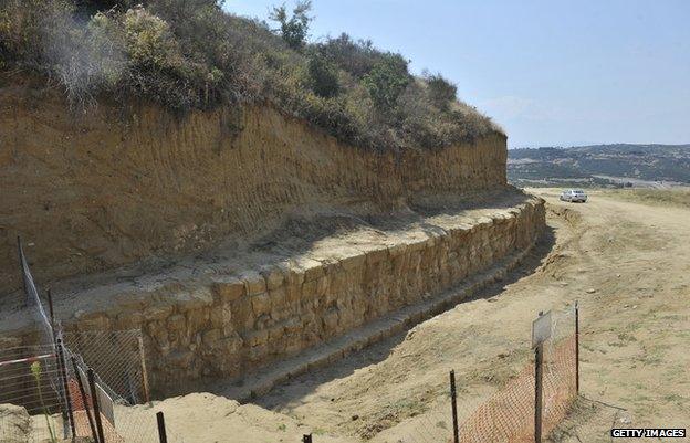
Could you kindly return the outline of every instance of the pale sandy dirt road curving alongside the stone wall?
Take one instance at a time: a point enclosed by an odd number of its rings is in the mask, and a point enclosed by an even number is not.
[[[326,441],[441,441],[449,369],[462,419],[523,368],[536,313],[578,299],[583,398],[552,441],[609,442],[611,426],[690,428],[690,210],[610,192],[586,204],[534,192],[550,204],[550,230],[504,282],[257,404],[273,423],[282,416]],[[263,425],[294,440],[274,426]]]

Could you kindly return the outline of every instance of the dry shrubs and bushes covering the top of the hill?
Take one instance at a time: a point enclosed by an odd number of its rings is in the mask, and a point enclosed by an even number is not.
[[[176,112],[271,103],[370,149],[440,148],[499,130],[441,75],[347,34],[309,43],[309,2],[265,22],[221,0],[3,0],[0,68],[40,72],[74,110],[101,95]]]

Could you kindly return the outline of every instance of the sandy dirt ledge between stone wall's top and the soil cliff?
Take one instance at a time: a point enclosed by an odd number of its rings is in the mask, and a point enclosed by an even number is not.
[[[309,267],[315,262],[327,263],[402,242],[415,242],[427,239],[429,232],[475,224],[482,218],[523,204],[529,199],[530,196],[509,187],[469,192],[463,197],[439,194],[419,199],[416,205],[405,211],[376,217],[360,218],[334,210],[302,213],[289,219],[279,230],[249,243],[222,242],[196,255],[156,263],[143,262],[136,266],[55,283],[50,286],[55,316],[69,321],[76,313],[116,310],[121,300],[129,303],[132,298],[150,297],[147,293],[163,292],[166,286],[170,286],[172,293],[178,291],[180,284],[198,287],[213,275],[240,275],[248,270],[274,265]],[[28,254],[31,257],[30,251]],[[45,286],[44,282],[42,285]],[[32,321],[33,316],[27,315],[23,303],[20,292],[0,297],[0,313],[3,315],[0,331],[20,329]]]

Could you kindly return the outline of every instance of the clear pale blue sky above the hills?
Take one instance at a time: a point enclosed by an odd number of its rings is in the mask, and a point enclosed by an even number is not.
[[[311,41],[347,32],[441,73],[511,148],[690,144],[690,0],[313,0],[312,15]]]

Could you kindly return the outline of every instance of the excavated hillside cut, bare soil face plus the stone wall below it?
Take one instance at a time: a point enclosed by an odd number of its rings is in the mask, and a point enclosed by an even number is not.
[[[499,131],[378,152],[271,107],[66,109],[0,73],[0,344],[38,339],[21,235],[65,329],[143,331],[158,397],[247,398],[341,358],[500,277],[545,224]]]

